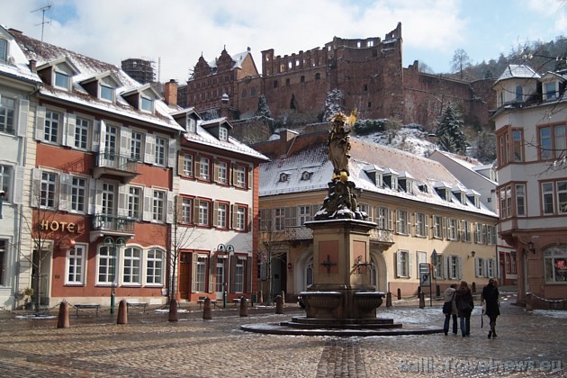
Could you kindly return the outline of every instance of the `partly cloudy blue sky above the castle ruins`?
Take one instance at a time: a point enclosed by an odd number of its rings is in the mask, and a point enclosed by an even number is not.
[[[403,66],[447,73],[456,49],[477,64],[567,36],[567,0],[0,0],[4,27],[118,67],[153,60],[161,82],[184,83],[199,57],[222,49],[250,48],[261,73],[262,50],[283,57],[333,37],[384,39],[398,23]]]

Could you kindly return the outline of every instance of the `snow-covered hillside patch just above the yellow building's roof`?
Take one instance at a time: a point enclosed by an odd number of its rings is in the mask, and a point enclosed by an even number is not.
[[[364,139],[384,146],[398,148],[420,157],[428,157],[429,154],[436,149],[435,144],[428,141],[427,137],[427,132],[410,127],[402,127],[400,130],[387,130],[363,136],[353,135],[353,138]]]

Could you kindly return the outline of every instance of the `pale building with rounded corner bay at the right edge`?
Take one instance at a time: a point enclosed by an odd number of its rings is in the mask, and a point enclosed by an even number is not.
[[[499,232],[516,250],[518,302],[543,309],[567,308],[566,83],[565,70],[510,65],[494,85]]]

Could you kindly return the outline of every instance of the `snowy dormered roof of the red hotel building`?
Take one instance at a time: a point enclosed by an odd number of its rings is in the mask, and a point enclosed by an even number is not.
[[[14,37],[14,40],[18,43],[20,49],[23,51],[23,56],[20,58],[23,59],[26,65],[31,59],[37,62],[37,67],[41,67],[49,65],[51,62],[58,59],[64,58],[67,62],[71,62],[73,67],[76,67],[76,70],[78,71],[78,74],[72,76],[72,91],[58,89],[50,85],[43,85],[40,89],[41,95],[56,98],[68,103],[75,103],[76,105],[88,106],[90,108],[98,109],[101,112],[111,112],[114,115],[120,115],[136,119],[138,121],[150,122],[157,127],[167,130],[184,130],[183,127],[181,127],[177,122],[175,122],[173,117],[171,117],[169,114],[171,109],[162,101],[154,102],[154,113],[141,112],[132,107],[130,103],[126,102],[121,97],[121,94],[131,94],[132,91],[139,90],[139,88],[145,89],[145,87],[128,76],[121,70],[121,68],[113,66],[110,63],[86,57],[85,55],[68,49],[63,49],[49,43],[41,42],[40,40],[34,40],[23,35],[23,33],[19,31],[12,31],[11,34]],[[121,85],[116,88],[115,103],[109,103],[88,94],[85,88],[81,85],[81,83],[90,81],[89,79],[92,77],[108,73],[111,73],[112,77],[118,80],[119,83],[117,84]]]

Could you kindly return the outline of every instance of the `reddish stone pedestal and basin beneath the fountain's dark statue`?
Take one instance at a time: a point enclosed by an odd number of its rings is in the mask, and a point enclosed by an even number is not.
[[[308,318],[375,319],[383,293],[371,285],[370,229],[374,222],[314,220],[313,285],[304,294]]]

